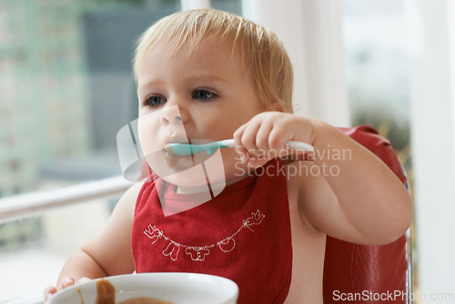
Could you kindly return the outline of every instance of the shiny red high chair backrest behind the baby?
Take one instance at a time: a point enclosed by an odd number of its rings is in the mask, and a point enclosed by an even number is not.
[[[388,140],[372,127],[340,128],[367,147],[407,185],[406,174]],[[365,246],[327,238],[324,303],[408,303],[410,250],[406,235],[384,246]]]

